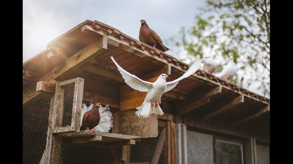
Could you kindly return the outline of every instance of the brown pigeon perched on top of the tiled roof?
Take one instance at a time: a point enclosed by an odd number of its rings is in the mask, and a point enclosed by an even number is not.
[[[159,49],[163,52],[169,50],[167,47],[164,46],[163,41],[161,40],[159,35],[154,32],[154,30],[149,28],[145,20],[141,20],[141,29],[139,30],[138,38],[141,42],[144,42],[147,45]]]

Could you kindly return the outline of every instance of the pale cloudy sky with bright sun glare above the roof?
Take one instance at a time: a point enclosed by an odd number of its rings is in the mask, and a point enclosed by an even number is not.
[[[181,27],[192,27],[203,6],[205,0],[23,0],[22,63],[87,19],[103,22],[137,40],[140,20],[144,19],[166,43]],[[167,54],[181,55],[171,54],[172,47],[167,47]],[[246,89],[262,95],[255,86]]]

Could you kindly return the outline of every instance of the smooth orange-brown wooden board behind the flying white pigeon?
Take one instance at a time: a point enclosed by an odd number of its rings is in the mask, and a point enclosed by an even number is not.
[[[158,77],[147,79],[145,81],[155,82]],[[134,90],[129,85],[123,85],[120,87],[120,111],[131,110],[139,107],[144,102],[147,92],[140,92]],[[155,102],[153,102],[155,104]],[[161,99],[158,101],[161,104]]]

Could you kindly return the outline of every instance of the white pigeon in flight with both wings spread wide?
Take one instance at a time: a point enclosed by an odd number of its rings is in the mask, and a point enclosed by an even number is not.
[[[147,92],[143,104],[140,107],[136,108],[138,111],[136,111],[135,114],[139,118],[149,118],[152,113],[155,113],[157,115],[163,115],[164,112],[158,104],[158,100],[161,99],[163,93],[176,87],[180,80],[194,74],[198,70],[201,63],[200,60],[197,60],[181,77],[172,82],[166,82],[166,78],[168,77],[168,75],[161,74],[158,79],[152,83],[141,80],[137,76],[130,74],[122,67],[120,67],[112,56],[111,59],[117,66],[120,74],[122,74],[122,77],[127,85],[135,90]],[[153,102],[156,102],[155,105],[153,105]]]

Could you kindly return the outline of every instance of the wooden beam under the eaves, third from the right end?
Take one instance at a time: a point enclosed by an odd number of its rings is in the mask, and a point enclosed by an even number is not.
[[[193,109],[196,109],[204,104],[210,102],[210,96],[222,93],[222,85],[219,85],[211,90],[203,91],[196,94],[187,100],[181,101],[176,104],[176,111],[178,114],[185,114]]]

